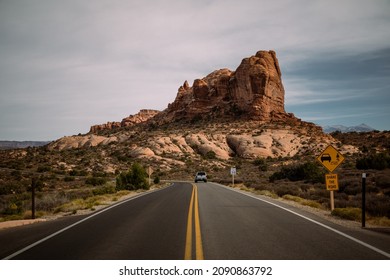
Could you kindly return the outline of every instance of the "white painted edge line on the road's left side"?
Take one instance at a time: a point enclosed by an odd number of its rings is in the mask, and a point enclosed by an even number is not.
[[[172,184],[170,184],[168,187],[170,187],[170,186],[172,186]],[[29,249],[31,249],[31,248],[41,244],[42,242],[45,242],[46,240],[49,240],[50,238],[52,238],[52,237],[54,237],[54,236],[56,236],[56,235],[58,235],[58,234],[60,234],[60,233],[62,233],[64,231],[67,231],[68,229],[71,229],[72,227],[77,226],[78,224],[81,224],[82,222],[85,222],[85,221],[87,221],[87,220],[89,220],[89,219],[91,219],[91,218],[93,218],[93,217],[95,217],[95,216],[97,216],[97,215],[99,215],[101,213],[104,213],[104,212],[106,212],[106,211],[108,211],[108,210],[110,210],[110,209],[112,209],[114,207],[117,207],[117,206],[119,206],[119,205],[121,205],[123,203],[129,202],[131,200],[140,198],[142,196],[145,196],[145,195],[148,195],[148,194],[151,194],[151,193],[154,193],[154,192],[166,189],[166,188],[167,187],[161,188],[161,189],[152,190],[152,191],[149,191],[149,192],[146,192],[146,193],[142,193],[142,194],[130,197],[130,198],[128,198],[126,200],[123,200],[121,202],[118,202],[116,204],[110,205],[110,206],[108,206],[108,207],[106,207],[106,208],[104,208],[104,209],[102,209],[102,210],[100,210],[100,211],[98,211],[98,212],[96,212],[96,213],[94,213],[94,214],[92,214],[92,215],[90,215],[90,216],[88,216],[88,217],[78,221],[78,222],[75,222],[74,224],[71,224],[71,225],[69,225],[69,226],[67,226],[67,227],[65,227],[63,229],[60,229],[59,231],[56,231],[55,233],[52,233],[52,234],[46,236],[45,238],[40,239],[40,240],[38,240],[38,241],[28,245],[27,247],[24,247],[23,249],[20,249],[19,251],[16,251],[15,253],[5,257],[3,260],[10,260],[10,259],[16,257],[17,255],[20,255],[21,253],[23,253],[23,252],[25,252],[25,251],[27,251],[27,250],[29,250]]]

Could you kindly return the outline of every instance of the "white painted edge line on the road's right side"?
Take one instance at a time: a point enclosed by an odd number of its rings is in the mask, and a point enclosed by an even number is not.
[[[217,186],[220,186],[220,187],[223,187],[223,188],[225,188],[225,189],[228,189],[228,190],[231,190],[231,191],[234,191],[234,192],[237,192],[237,193],[240,193],[240,194],[242,194],[242,195],[246,195],[246,196],[248,196],[248,197],[251,197],[251,198],[254,198],[254,199],[263,201],[263,202],[268,203],[268,204],[271,204],[271,205],[273,205],[273,206],[276,206],[276,207],[278,207],[278,208],[280,208],[280,209],[283,209],[283,210],[285,210],[285,211],[287,211],[287,212],[290,212],[290,213],[292,213],[292,214],[294,214],[294,215],[296,215],[296,216],[298,216],[298,217],[301,217],[301,218],[303,218],[303,219],[305,219],[305,220],[308,220],[308,221],[310,221],[310,222],[312,222],[312,223],[315,223],[315,224],[317,224],[317,225],[319,225],[319,226],[321,226],[321,227],[324,227],[324,228],[326,228],[326,229],[328,229],[328,230],[330,230],[330,231],[333,231],[333,232],[335,232],[335,233],[337,233],[337,234],[339,234],[339,235],[341,235],[341,236],[343,236],[343,237],[345,237],[345,238],[348,238],[348,239],[350,239],[350,240],[352,240],[352,241],[354,241],[354,242],[356,242],[356,243],[358,243],[358,244],[360,244],[360,245],[362,245],[362,246],[364,246],[364,247],[366,247],[366,248],[369,248],[369,249],[371,249],[371,250],[373,250],[373,251],[375,251],[375,252],[377,252],[377,253],[379,253],[379,254],[385,256],[386,258],[389,258],[389,259],[390,259],[390,254],[389,254],[389,253],[387,253],[387,252],[385,252],[385,251],[383,251],[383,250],[381,250],[381,249],[378,249],[378,248],[376,248],[376,247],[374,247],[374,246],[372,246],[372,245],[370,245],[370,244],[368,244],[368,243],[365,243],[365,242],[363,242],[363,241],[361,241],[361,240],[359,240],[359,239],[356,239],[355,237],[352,237],[352,236],[350,236],[350,235],[348,235],[348,234],[345,234],[344,232],[341,232],[341,231],[339,231],[339,230],[337,230],[337,229],[334,229],[334,228],[332,228],[332,227],[330,227],[330,226],[327,226],[327,225],[325,225],[325,224],[323,224],[323,223],[320,223],[320,222],[318,222],[318,221],[316,221],[316,220],[313,220],[313,219],[311,219],[311,218],[309,218],[309,217],[306,217],[306,216],[301,215],[301,214],[299,214],[299,213],[297,213],[297,212],[294,212],[293,210],[290,210],[290,209],[288,209],[288,208],[285,208],[285,207],[283,207],[283,206],[280,206],[280,205],[278,205],[278,204],[276,204],[276,203],[267,201],[267,200],[262,199],[262,198],[260,198],[260,197],[256,197],[256,196],[253,196],[253,195],[251,195],[251,194],[247,194],[247,193],[244,193],[244,192],[235,190],[235,189],[233,189],[233,188],[229,188],[229,187],[224,186],[224,185],[221,185],[221,184],[217,184],[217,183],[212,183],[212,184],[217,185]]]

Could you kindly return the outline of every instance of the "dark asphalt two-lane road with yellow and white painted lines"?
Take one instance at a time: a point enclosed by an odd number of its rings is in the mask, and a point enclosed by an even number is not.
[[[175,183],[91,216],[2,230],[0,258],[390,258],[389,235],[282,207],[213,183]]]

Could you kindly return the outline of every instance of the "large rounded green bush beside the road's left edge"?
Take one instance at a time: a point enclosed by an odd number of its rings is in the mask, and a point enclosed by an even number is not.
[[[117,190],[149,189],[148,174],[138,163],[134,163],[127,172],[122,172],[116,177]]]

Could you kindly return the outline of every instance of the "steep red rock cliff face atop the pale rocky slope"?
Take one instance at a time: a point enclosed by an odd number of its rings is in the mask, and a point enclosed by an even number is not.
[[[175,101],[159,120],[240,118],[270,121],[288,117],[284,87],[274,51],[259,51],[244,58],[236,71],[220,69],[179,88]]]

